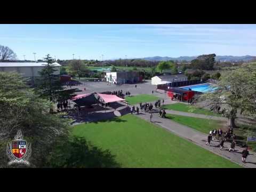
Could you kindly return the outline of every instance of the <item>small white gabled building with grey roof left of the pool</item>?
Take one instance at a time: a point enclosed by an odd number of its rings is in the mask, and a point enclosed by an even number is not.
[[[160,84],[166,84],[166,83],[172,83],[172,82],[187,81],[187,79],[188,79],[187,76],[183,74],[161,75],[161,76],[152,77],[151,84],[160,85]]]

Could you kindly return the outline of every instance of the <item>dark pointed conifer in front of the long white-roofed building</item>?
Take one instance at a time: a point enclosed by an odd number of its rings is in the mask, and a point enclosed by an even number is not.
[[[47,98],[50,101],[60,97],[59,93],[63,90],[60,82],[60,75],[55,74],[58,69],[55,68],[54,59],[47,54],[44,60],[47,64],[39,71],[41,75],[36,84],[36,91],[43,98]]]

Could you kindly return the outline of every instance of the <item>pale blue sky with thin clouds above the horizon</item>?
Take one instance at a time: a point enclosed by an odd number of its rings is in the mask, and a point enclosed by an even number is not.
[[[0,44],[21,60],[256,55],[256,25],[0,25]]]

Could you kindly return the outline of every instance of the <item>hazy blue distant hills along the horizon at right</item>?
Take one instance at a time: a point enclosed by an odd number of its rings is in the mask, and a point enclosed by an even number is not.
[[[167,60],[191,61],[196,58],[197,58],[197,56],[182,56],[182,57],[178,57],[178,58],[155,56],[155,57],[147,57],[147,58],[140,58],[140,59],[145,59],[145,60],[149,60],[149,61],[167,61]],[[217,55],[215,57],[215,60],[216,61],[242,61],[242,60],[250,61],[255,58],[256,58],[255,56],[251,56],[251,55],[245,55],[245,56]]]

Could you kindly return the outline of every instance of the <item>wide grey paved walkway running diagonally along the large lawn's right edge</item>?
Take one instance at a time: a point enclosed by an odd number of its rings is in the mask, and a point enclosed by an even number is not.
[[[139,115],[137,115],[138,117],[145,119],[147,121],[150,121],[150,117],[149,117],[149,113],[140,113]],[[196,116],[198,117],[198,114],[196,114]],[[158,126],[161,126],[171,132],[173,132],[174,134],[179,135],[182,138],[185,138],[191,142],[196,143],[196,145],[199,145],[207,150],[212,151],[215,154],[218,154],[222,157],[225,157],[227,159],[229,159],[230,161],[233,161],[237,164],[240,164],[244,167],[251,167],[251,168],[256,168],[256,154],[252,153],[250,151],[250,155],[247,157],[246,161],[247,163],[242,163],[242,150],[243,148],[241,147],[236,147],[236,151],[234,153],[229,152],[228,149],[230,147],[230,142],[225,142],[224,144],[224,148],[222,150],[220,150],[217,145],[219,143],[219,141],[212,141],[211,145],[212,146],[207,146],[205,145],[205,142],[207,140],[207,134],[199,132],[197,130],[191,129],[188,126],[185,125],[181,125],[179,123],[175,123],[173,121],[171,121],[170,119],[166,119],[166,118],[161,118],[158,117],[158,114],[153,114],[153,118],[152,118],[151,123],[154,123]]]

